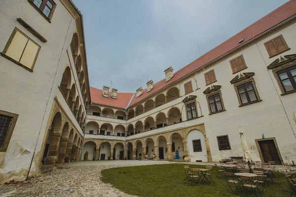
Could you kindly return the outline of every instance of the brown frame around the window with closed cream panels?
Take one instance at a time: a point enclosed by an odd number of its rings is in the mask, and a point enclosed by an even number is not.
[[[9,49],[9,46],[10,46],[10,44],[11,44],[11,42],[12,42],[12,40],[13,40],[13,38],[14,38],[14,36],[15,36],[15,34],[16,34],[17,32],[19,32],[19,33],[21,33],[22,35],[24,35],[28,40],[30,40],[31,42],[33,42],[33,43],[34,43],[35,45],[37,45],[37,47],[38,47],[38,50],[37,50],[37,53],[36,53],[36,56],[35,56],[35,59],[34,59],[34,62],[33,62],[33,64],[32,64],[32,66],[31,66],[31,68],[29,68],[28,66],[25,66],[25,65],[21,64],[20,62],[18,62],[18,61],[16,61],[16,60],[12,59],[11,57],[9,57],[9,56],[6,55],[6,52],[7,52],[7,50]],[[25,46],[25,48],[23,49],[23,53],[24,53],[25,49],[26,49],[26,46]],[[18,65],[18,66],[21,66],[21,67],[25,68],[26,70],[28,70],[28,71],[30,71],[30,72],[33,72],[33,69],[34,69],[34,67],[35,67],[35,64],[36,64],[36,61],[37,61],[37,58],[38,58],[38,55],[39,55],[39,52],[40,52],[40,49],[41,49],[41,46],[40,46],[39,44],[37,44],[37,42],[35,42],[33,39],[31,39],[31,38],[30,38],[29,36],[27,36],[25,33],[23,33],[22,31],[20,31],[17,27],[15,27],[14,30],[12,31],[12,33],[11,33],[9,39],[8,39],[8,41],[7,41],[7,43],[6,43],[6,45],[5,45],[4,49],[3,49],[3,51],[0,53],[0,55],[1,55],[2,57],[6,58],[7,60],[13,62],[14,64],[16,64],[16,65]],[[20,57],[20,60],[21,60],[21,59],[22,59],[22,56]]]

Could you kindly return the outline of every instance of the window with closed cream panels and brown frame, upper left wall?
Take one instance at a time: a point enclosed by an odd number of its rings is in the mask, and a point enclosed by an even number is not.
[[[35,41],[15,28],[1,56],[33,72],[40,48]]]

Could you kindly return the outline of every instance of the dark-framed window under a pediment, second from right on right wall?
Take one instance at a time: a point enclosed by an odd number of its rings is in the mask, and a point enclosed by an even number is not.
[[[252,81],[237,86],[237,91],[242,104],[258,100]]]

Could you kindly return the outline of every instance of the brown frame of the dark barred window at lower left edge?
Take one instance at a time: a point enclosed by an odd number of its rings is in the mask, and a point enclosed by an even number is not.
[[[10,123],[9,123],[10,125],[8,126],[8,128],[6,130],[6,139],[4,141],[4,145],[3,145],[3,147],[0,147],[0,152],[6,152],[9,142],[10,142],[10,139],[11,139],[11,135],[12,135],[12,133],[14,131],[14,127],[16,125],[16,121],[18,119],[18,114],[14,114],[14,113],[2,111],[2,110],[0,110],[0,114],[11,118]]]

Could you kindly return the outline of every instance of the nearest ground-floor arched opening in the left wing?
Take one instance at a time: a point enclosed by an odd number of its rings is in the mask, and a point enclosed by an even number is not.
[[[51,122],[50,129],[47,134],[47,139],[43,151],[42,161],[45,164],[55,164],[57,161],[58,148],[60,143],[60,136],[53,135],[54,133],[61,133],[62,131],[62,116],[57,112]]]

